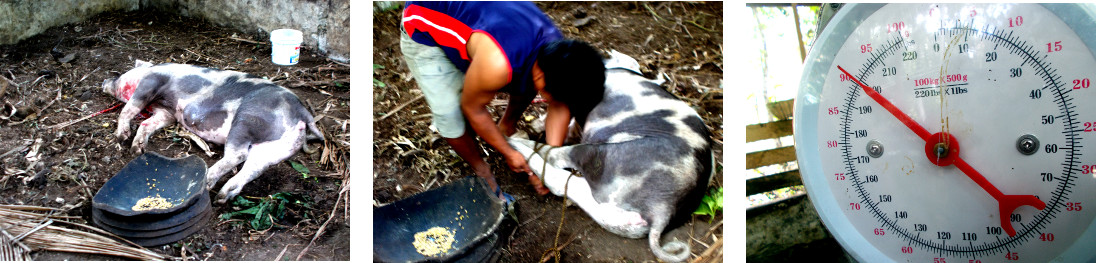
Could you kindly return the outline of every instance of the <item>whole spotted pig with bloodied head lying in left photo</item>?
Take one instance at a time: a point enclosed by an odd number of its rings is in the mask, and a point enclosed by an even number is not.
[[[144,108],[152,113],[137,128],[135,151],[144,150],[153,132],[176,122],[207,141],[225,145],[224,158],[206,172],[208,188],[243,162],[220,188],[219,204],[238,195],[267,167],[296,153],[306,138],[323,139],[297,95],[243,72],[137,60],[134,69],[104,80],[103,92],[126,102],[114,133],[119,139],[129,138],[129,121],[137,113]]]

